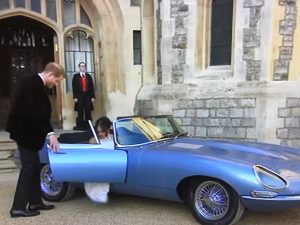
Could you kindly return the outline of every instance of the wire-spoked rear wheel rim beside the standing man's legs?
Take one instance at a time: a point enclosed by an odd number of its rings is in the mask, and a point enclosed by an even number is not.
[[[58,195],[62,188],[63,182],[57,182],[53,178],[53,174],[49,165],[45,165],[41,170],[41,189],[49,196]]]

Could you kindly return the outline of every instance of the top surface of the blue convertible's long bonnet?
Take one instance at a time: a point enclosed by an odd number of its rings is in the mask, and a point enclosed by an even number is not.
[[[283,177],[300,179],[300,150],[280,145],[215,141],[199,138],[179,138],[158,147],[169,151],[182,151],[215,160],[229,160],[247,165],[262,165]]]

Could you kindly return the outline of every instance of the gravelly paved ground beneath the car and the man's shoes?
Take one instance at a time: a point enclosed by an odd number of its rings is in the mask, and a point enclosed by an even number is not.
[[[52,211],[31,218],[9,216],[17,172],[0,174],[0,225],[199,225],[184,204],[110,195],[105,205],[93,204],[84,193],[55,203]],[[300,208],[285,212],[246,211],[238,225],[298,225]]]

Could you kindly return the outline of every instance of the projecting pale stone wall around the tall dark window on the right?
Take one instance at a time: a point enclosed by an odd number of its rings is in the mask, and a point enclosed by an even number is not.
[[[212,1],[157,1],[158,82],[136,113],[172,114],[198,137],[300,147],[300,1],[232,2],[231,63],[210,65]]]

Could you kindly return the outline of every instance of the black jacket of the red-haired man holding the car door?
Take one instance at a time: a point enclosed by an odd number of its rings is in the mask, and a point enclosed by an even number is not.
[[[43,80],[38,74],[20,80],[13,96],[6,130],[18,145],[40,150],[49,132],[51,104]]]

